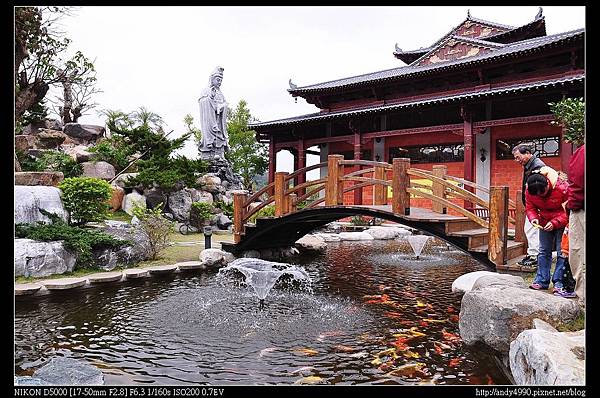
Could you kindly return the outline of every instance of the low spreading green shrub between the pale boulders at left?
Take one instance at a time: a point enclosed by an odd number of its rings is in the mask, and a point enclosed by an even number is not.
[[[77,256],[75,268],[92,267],[94,265],[92,252],[108,248],[119,249],[131,245],[130,241],[116,239],[104,232],[84,229],[67,225],[56,214],[40,209],[51,219],[51,224],[17,224],[15,235],[18,238],[39,240],[44,242],[62,240],[66,250]]]

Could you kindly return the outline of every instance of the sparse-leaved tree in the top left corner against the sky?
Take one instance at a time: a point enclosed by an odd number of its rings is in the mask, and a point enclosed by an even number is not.
[[[50,86],[67,84],[71,89],[89,88],[96,82],[94,64],[80,51],[70,58],[65,57],[71,40],[56,29],[56,22],[68,15],[69,10],[68,7],[15,8],[17,123],[46,97]],[[71,102],[70,110],[75,106],[77,104]]]

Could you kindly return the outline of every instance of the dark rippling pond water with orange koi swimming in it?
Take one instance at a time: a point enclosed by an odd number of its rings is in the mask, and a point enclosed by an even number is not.
[[[334,242],[290,261],[259,305],[243,278],[181,272],[15,302],[15,373],[55,356],[120,384],[510,384],[458,333],[460,275],[486,268],[429,239]],[[289,281],[288,281],[289,282]]]

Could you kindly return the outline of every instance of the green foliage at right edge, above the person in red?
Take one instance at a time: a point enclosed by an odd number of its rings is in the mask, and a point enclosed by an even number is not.
[[[585,140],[585,102],[583,98],[565,98],[559,102],[550,102],[550,110],[556,120],[550,122],[564,128],[563,139],[575,145]]]

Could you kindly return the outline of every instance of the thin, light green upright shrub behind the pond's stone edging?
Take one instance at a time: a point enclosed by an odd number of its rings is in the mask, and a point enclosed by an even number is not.
[[[148,238],[148,251],[152,260],[169,246],[169,235],[175,229],[175,223],[167,220],[162,215],[163,204],[160,203],[153,209],[134,205],[133,215],[140,220],[142,233]]]

